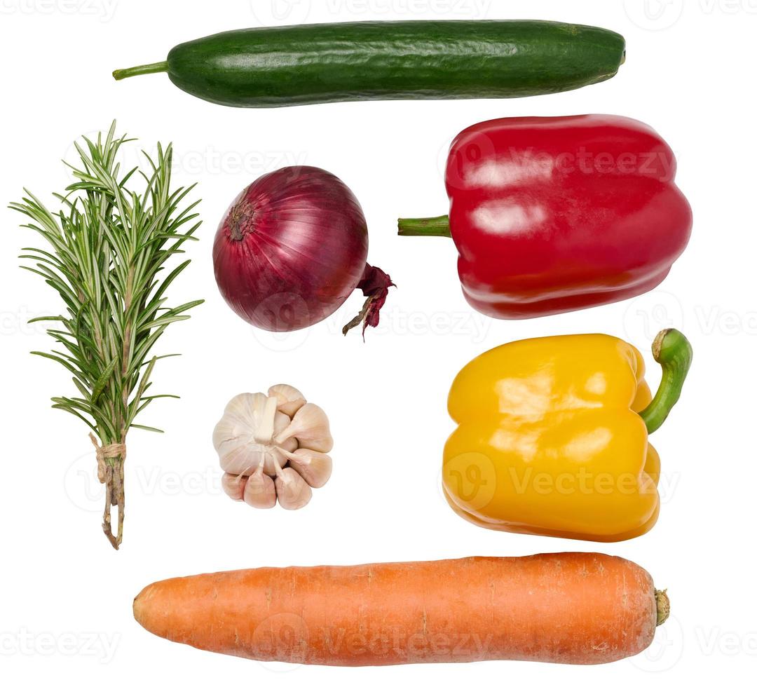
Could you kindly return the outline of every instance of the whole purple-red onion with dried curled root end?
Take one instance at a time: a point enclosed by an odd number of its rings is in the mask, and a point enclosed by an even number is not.
[[[378,324],[388,274],[366,264],[368,229],[357,198],[317,167],[283,167],[235,198],[213,244],[216,282],[244,320],[291,332],[335,312],[354,289],[368,297],[342,330]]]

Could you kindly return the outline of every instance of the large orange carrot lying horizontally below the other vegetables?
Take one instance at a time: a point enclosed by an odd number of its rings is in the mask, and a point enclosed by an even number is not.
[[[134,600],[154,634],[288,663],[601,664],[668,617],[646,570],[603,554],[236,570],[155,582]]]

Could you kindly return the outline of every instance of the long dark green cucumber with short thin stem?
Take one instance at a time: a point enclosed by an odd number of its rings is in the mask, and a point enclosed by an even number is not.
[[[217,33],[176,45],[164,62],[117,80],[167,72],[198,98],[248,108],[322,102],[520,98],[615,76],[625,40],[550,21],[324,23]]]

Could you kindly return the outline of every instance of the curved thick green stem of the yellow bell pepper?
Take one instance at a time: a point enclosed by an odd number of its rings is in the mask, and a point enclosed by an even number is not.
[[[640,412],[650,434],[662,426],[671,408],[681,398],[681,389],[684,388],[693,358],[689,340],[678,329],[663,329],[652,344],[652,353],[662,365],[662,381],[655,398]]]

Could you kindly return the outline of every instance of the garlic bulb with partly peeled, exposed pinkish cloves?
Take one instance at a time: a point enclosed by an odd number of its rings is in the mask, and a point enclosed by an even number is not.
[[[256,508],[306,505],[331,476],[333,445],[326,413],[288,384],[235,396],[213,430],[223,491]]]

